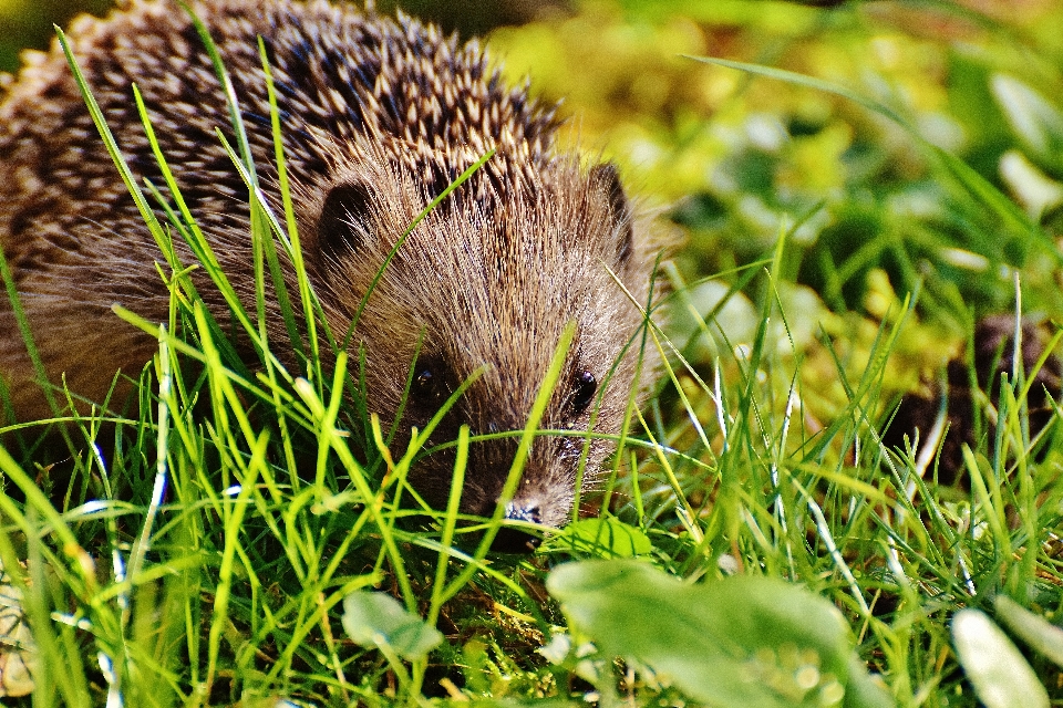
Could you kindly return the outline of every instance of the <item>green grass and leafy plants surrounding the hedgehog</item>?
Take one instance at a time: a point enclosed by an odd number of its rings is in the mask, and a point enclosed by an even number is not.
[[[685,238],[668,365],[584,518],[491,553],[497,519],[411,499],[421,450],[388,449],[357,356],[286,371],[234,296],[241,362],[169,262],[165,327],[118,312],[159,337],[138,416],[76,419],[47,467],[43,426],[0,450],[32,705],[1063,705],[1063,409],[1032,405],[1063,336],[1063,4],[685,4],[491,38]],[[298,243],[257,214],[265,281]],[[179,209],[154,229],[197,240]],[[995,313],[1039,315],[1045,354],[987,381]],[[931,425],[947,382],[969,438]],[[932,415],[890,437],[905,394]]]

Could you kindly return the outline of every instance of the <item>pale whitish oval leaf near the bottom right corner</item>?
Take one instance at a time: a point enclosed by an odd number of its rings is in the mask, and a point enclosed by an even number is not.
[[[987,708],[1049,708],[1049,694],[1008,635],[978,610],[952,618],[960,665]]]

